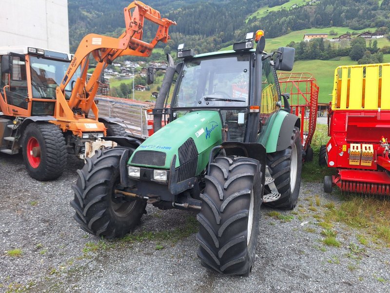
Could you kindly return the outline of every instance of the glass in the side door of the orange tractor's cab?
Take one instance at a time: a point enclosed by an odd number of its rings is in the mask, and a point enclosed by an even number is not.
[[[14,105],[27,109],[27,75],[26,63],[20,57],[12,56],[12,71],[10,76],[9,87],[6,88],[5,94],[9,105]]]

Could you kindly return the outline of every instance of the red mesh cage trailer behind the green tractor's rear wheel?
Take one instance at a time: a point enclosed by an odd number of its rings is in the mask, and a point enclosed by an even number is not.
[[[281,72],[278,80],[281,93],[290,94],[291,113],[301,118],[303,150],[312,152],[310,144],[317,123],[319,86],[307,72]]]

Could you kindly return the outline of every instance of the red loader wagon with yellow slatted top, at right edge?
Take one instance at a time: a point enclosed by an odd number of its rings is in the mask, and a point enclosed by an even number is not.
[[[390,63],[339,66],[328,114],[324,180],[343,191],[390,195]]]

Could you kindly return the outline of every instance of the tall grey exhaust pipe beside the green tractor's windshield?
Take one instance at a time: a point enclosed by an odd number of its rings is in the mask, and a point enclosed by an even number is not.
[[[157,95],[155,113],[153,117],[153,130],[156,132],[161,128],[162,108],[171,88],[176,72],[175,62],[171,55],[167,54],[168,67],[162,80],[161,89]]]

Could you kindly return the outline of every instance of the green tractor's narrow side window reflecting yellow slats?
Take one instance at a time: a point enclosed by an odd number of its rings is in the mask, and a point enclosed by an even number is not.
[[[269,118],[276,111],[276,104],[279,101],[277,85],[275,83],[274,68],[270,64],[270,60],[263,61],[263,69],[261,73],[261,106],[260,119],[265,126]]]

